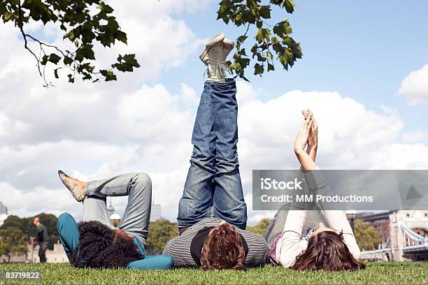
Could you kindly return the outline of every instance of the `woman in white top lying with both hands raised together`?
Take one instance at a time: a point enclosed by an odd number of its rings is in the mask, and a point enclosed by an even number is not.
[[[294,142],[294,152],[304,170],[306,181],[314,181],[307,175],[317,175],[315,172],[319,169],[315,164],[318,124],[311,110],[303,111],[303,114],[305,118]],[[315,180],[316,183],[325,185],[325,180],[318,178],[321,179]],[[318,189],[317,185],[310,188]],[[323,214],[323,217],[318,214]],[[329,227],[324,226],[324,220]],[[302,236],[305,222],[310,225],[318,224],[318,229],[309,227],[306,235]],[[359,247],[343,211],[281,208],[266,228],[264,237],[271,247],[269,261],[275,265],[294,270],[337,271],[365,268],[364,263],[358,260]]]

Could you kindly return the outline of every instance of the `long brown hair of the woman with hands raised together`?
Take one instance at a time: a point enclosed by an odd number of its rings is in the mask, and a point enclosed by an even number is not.
[[[364,269],[366,265],[352,256],[342,233],[322,231],[309,238],[306,251],[297,256],[291,268],[338,271]]]

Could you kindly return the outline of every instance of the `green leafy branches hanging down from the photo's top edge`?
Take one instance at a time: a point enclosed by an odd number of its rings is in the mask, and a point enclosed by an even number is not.
[[[155,0],[152,0],[155,1]],[[160,3],[162,5],[162,3]],[[255,61],[255,75],[275,69],[278,59],[283,68],[293,66],[301,58],[301,48],[290,36],[292,28],[287,19],[269,23],[272,8],[293,13],[292,0],[222,0],[217,20],[243,27],[245,33],[236,39],[236,53],[229,61],[231,71],[244,78],[244,71]],[[127,43],[127,34],[120,29],[113,16],[113,8],[101,0],[0,0],[0,16],[3,22],[13,22],[24,39],[24,48],[34,57],[38,73],[44,85],[52,85],[45,76],[49,65],[55,78],[60,70],[66,71],[69,82],[78,76],[83,80],[116,80],[117,71],[132,72],[140,65],[135,54],[119,54],[117,61],[99,67],[94,45],[111,47],[117,41]],[[51,45],[27,32],[27,24],[41,22],[56,24],[63,32],[67,47]],[[250,42],[250,52],[245,50],[248,32],[255,31]],[[35,47],[34,47],[35,44]]]

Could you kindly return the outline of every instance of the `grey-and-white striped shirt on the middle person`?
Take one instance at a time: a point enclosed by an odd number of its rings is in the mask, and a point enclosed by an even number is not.
[[[192,239],[197,235],[198,231],[207,226],[218,226],[223,220],[215,218],[207,218],[197,222],[180,236],[173,238],[166,244],[164,252],[174,258],[174,266],[197,267],[192,254],[190,254],[190,244]],[[245,257],[246,267],[257,267],[264,265],[269,256],[269,247],[266,240],[260,235],[251,233],[250,231],[236,228],[236,231],[242,235],[248,245],[248,254]]]

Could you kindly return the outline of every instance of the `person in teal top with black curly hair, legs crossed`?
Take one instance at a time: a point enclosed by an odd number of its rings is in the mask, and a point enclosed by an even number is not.
[[[82,182],[58,171],[59,178],[78,202],[83,203],[83,223],[69,213],[58,217],[59,240],[70,263],[78,268],[169,269],[171,256],[145,256],[152,182],[145,173],[129,173],[106,180]],[[122,221],[110,223],[106,197],[128,196]]]

